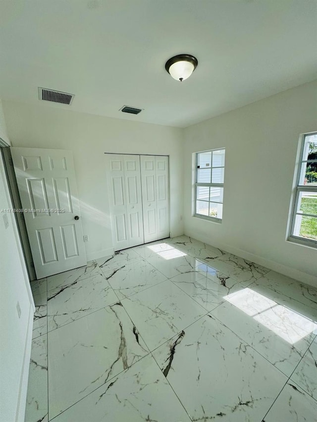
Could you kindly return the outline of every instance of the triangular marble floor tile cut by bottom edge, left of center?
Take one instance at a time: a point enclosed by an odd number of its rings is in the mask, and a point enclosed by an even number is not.
[[[54,422],[191,422],[151,355],[59,415]]]

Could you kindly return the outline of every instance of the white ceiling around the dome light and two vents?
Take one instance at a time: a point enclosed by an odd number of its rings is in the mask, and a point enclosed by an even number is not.
[[[1,0],[0,98],[187,127],[316,79],[316,23],[316,0]],[[182,83],[178,53],[198,58]]]

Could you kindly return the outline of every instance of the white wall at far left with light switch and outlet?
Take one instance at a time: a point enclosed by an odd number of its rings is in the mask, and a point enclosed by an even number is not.
[[[7,139],[1,119],[0,138]],[[12,208],[0,155],[0,210]],[[14,215],[0,212],[0,420],[23,422],[32,340],[34,304]],[[19,301],[21,317],[16,303]]]

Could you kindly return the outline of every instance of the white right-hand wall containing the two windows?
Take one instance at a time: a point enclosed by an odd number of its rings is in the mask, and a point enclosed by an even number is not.
[[[317,286],[317,250],[286,241],[299,135],[317,130],[317,81],[185,129],[185,234]],[[225,147],[223,221],[192,216],[192,153]]]

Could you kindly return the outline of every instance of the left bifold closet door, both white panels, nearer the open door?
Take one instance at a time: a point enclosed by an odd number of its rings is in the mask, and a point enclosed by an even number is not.
[[[106,154],[114,250],[144,243],[140,156]]]

